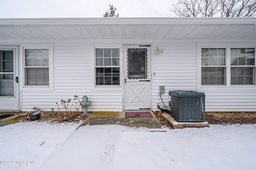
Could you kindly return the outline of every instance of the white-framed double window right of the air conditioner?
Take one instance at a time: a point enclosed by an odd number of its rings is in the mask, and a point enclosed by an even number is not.
[[[239,44],[241,43],[198,44],[200,87],[255,87],[255,45]]]

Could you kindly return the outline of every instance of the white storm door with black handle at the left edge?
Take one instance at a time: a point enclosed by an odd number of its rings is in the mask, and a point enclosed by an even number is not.
[[[0,111],[19,111],[18,47],[0,48]]]

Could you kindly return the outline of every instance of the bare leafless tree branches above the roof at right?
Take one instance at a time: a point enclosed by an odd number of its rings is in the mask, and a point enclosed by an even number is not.
[[[180,17],[252,17],[256,0],[178,0],[171,12]]]

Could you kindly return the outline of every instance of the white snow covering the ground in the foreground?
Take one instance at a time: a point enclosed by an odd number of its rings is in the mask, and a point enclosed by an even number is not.
[[[0,127],[1,170],[256,170],[256,124],[168,129]]]

